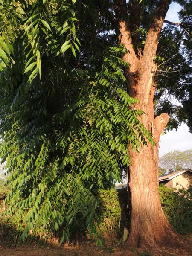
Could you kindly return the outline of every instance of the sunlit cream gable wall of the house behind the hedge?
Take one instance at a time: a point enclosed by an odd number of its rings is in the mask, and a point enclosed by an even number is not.
[[[176,189],[189,188],[189,186],[192,186],[192,173],[184,172],[183,174],[178,175],[172,179],[172,184]]]

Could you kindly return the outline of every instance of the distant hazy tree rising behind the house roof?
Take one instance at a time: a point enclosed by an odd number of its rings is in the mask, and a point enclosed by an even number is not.
[[[172,172],[177,172],[186,168],[192,169],[192,150],[183,152],[175,150],[169,152],[160,157],[159,165]]]

